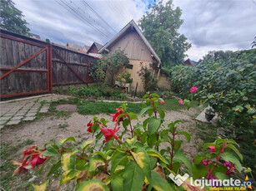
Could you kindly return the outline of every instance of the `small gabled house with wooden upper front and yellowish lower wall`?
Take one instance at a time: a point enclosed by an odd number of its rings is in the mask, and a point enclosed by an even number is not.
[[[113,53],[115,51],[123,51],[124,54],[128,56],[129,65],[131,65],[131,67],[127,70],[131,73],[131,77],[133,78],[131,84],[132,91],[135,90],[137,83],[138,91],[143,91],[143,82],[138,75],[138,71],[140,71],[142,66],[147,66],[148,69],[152,69],[154,75],[159,77],[161,68],[160,58],[133,20],[128,22],[112,40],[98,51],[98,53]],[[167,83],[169,83],[169,81]],[[166,83],[163,82],[163,84]]]

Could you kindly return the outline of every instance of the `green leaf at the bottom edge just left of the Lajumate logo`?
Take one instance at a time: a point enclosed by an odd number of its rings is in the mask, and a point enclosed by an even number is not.
[[[162,179],[161,176],[151,171],[152,179],[149,181],[150,185],[153,186],[153,189],[156,189],[157,191],[167,191],[167,190],[174,190],[170,184],[166,181],[166,179]]]

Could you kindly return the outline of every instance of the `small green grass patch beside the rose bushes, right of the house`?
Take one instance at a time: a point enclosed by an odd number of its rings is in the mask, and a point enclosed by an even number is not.
[[[199,105],[198,101],[191,101],[190,102],[190,107],[197,107]],[[168,100],[164,100],[164,104],[163,105],[159,105],[159,108],[162,110],[187,110],[188,109],[188,105],[179,105],[178,104],[178,99],[176,98],[171,98]]]

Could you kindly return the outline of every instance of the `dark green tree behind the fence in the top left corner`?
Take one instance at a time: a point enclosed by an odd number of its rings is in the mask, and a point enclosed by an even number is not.
[[[0,26],[9,32],[31,36],[28,22],[23,19],[23,12],[14,6],[12,0],[0,0]]]

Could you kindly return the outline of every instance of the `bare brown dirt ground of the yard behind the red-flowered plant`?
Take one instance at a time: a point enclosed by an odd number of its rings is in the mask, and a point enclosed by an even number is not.
[[[168,124],[175,120],[184,121],[184,123],[178,124],[177,126],[179,130],[188,131],[191,135],[192,139],[190,143],[188,143],[188,141],[183,136],[180,137],[180,139],[183,140],[183,153],[186,154],[190,160],[193,159],[193,156],[198,152],[198,149],[202,148],[203,144],[203,141],[196,136],[196,125],[199,122],[197,120],[193,120],[193,118],[195,118],[198,113],[199,110],[196,108],[182,111],[166,111],[165,121],[163,123]],[[86,125],[88,121],[93,119],[94,116],[97,116],[98,119],[103,117],[106,120],[112,120],[110,115],[79,115],[77,112],[71,112],[69,117],[63,117],[59,119],[54,115],[43,116],[38,120],[30,123],[24,123],[21,125],[4,128],[1,130],[1,144],[10,144],[10,146],[15,146],[18,143],[29,139],[34,141],[33,144],[43,146],[43,144],[46,142],[58,142],[58,140],[68,138],[69,136],[75,137],[78,143],[82,142],[83,140],[93,140],[92,135],[87,132]],[[139,116],[141,123],[143,119],[145,119],[144,116]],[[134,123],[133,125],[136,124]],[[166,147],[166,144],[162,144],[160,149],[163,147]],[[21,159],[22,150],[28,148],[29,145],[20,148],[17,153],[13,154],[13,158],[17,160]],[[1,163],[3,162],[4,161],[1,161]],[[35,175],[34,179],[35,184],[43,183],[42,179],[38,178],[38,175]],[[13,181],[12,187],[16,188],[12,190],[17,190],[18,181],[21,181],[21,179],[10,179],[10,181]],[[49,190],[54,190],[53,188],[56,189],[58,186],[58,179],[54,179],[52,181],[53,182],[50,183]],[[67,187],[64,188],[60,190],[69,190]]]

